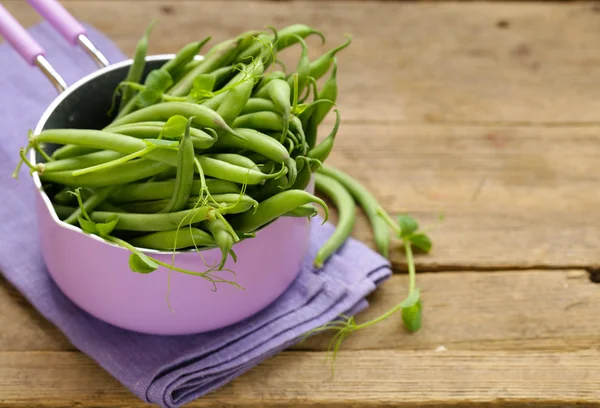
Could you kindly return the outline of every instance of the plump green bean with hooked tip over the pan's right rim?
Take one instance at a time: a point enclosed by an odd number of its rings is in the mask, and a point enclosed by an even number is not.
[[[325,221],[328,219],[329,210],[325,201],[303,190],[286,190],[260,202],[256,212],[239,214],[230,223],[236,231],[254,232],[294,208],[309,203],[318,203],[323,207]]]

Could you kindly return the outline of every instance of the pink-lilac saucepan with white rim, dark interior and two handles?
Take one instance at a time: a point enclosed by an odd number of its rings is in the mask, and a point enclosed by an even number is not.
[[[0,35],[28,63],[39,67],[60,92],[40,118],[34,133],[52,128],[106,126],[104,113],[109,110],[112,93],[127,75],[132,60],[109,64],[87,38],[85,28],[60,4],[54,0],[28,1],[66,40],[84,47],[100,66],[67,87],[45,59],[44,50],[0,5]],[[171,58],[173,55],[147,57],[145,74]],[[38,157],[32,153],[30,159],[35,163]],[[244,290],[220,284],[213,291],[213,285],[202,278],[169,273],[163,267],[148,275],[138,274],[129,269],[127,250],[62,222],[42,190],[37,174],[33,175],[33,182],[41,249],[52,279],[80,308],[128,330],[192,334],[239,322],[265,308],[288,288],[300,272],[308,248],[310,221],[284,217],[259,231],[255,238],[235,245],[237,262],[230,258],[225,268],[236,272],[234,280]],[[140,250],[167,263],[173,255]],[[220,256],[219,249],[202,251],[204,260],[196,251],[180,251],[175,254],[175,265],[203,271],[204,262],[215,264]]]

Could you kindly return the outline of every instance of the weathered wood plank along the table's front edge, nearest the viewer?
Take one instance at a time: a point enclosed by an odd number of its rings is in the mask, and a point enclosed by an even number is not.
[[[190,407],[598,407],[598,352],[284,352]],[[145,406],[76,352],[0,352],[0,406]]]

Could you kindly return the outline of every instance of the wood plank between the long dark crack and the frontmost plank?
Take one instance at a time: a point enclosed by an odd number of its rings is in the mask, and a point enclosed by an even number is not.
[[[449,272],[418,276],[423,328],[408,334],[400,316],[348,337],[343,350],[578,351],[597,348],[600,286],[572,271]],[[406,295],[407,279],[395,275],[357,316],[379,316]],[[68,340],[31,310],[7,284],[0,285],[0,350],[73,350]],[[331,333],[307,339],[296,350],[327,349]]]

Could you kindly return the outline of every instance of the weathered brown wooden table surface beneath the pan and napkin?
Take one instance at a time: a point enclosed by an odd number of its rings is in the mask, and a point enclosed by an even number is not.
[[[128,55],[155,17],[152,53],[267,24],[305,22],[328,44],[351,33],[330,163],[392,213],[445,215],[416,260],[421,331],[398,316],[353,334],[333,378],[318,336],[191,406],[600,407],[597,3],[62,3]],[[354,236],[372,245],[362,216]],[[359,320],[404,296],[402,251],[391,258]],[[1,406],[144,406],[5,281],[0,327]]]

